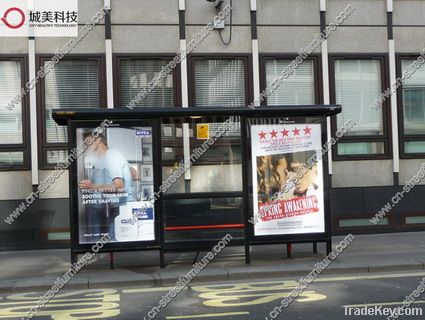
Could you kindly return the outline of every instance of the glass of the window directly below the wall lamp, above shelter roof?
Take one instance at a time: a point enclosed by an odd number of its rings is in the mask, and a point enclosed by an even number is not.
[[[195,60],[196,106],[245,106],[245,63],[243,60]]]

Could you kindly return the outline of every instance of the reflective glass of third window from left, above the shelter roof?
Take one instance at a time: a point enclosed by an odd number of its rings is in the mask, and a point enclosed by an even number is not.
[[[128,105],[139,92],[168,64],[168,60],[121,60],[121,103]],[[138,104],[138,107],[174,106],[173,74],[159,81],[156,88]]]

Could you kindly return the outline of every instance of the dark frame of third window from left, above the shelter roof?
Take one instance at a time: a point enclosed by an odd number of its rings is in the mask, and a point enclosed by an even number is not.
[[[121,94],[121,61],[122,60],[166,60],[172,61],[176,54],[131,54],[131,53],[116,53],[113,54],[113,72],[114,72],[114,108],[125,107],[122,103]],[[168,63],[167,62],[167,63]],[[180,63],[173,69],[173,99],[174,107],[181,107],[181,75]],[[160,108],[160,107],[158,107]]]

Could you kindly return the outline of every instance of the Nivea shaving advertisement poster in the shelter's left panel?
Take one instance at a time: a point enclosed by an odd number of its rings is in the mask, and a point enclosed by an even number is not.
[[[93,128],[94,129],[94,128]],[[77,143],[87,150],[78,159],[79,242],[155,240],[152,128],[109,127],[97,137],[93,129],[77,129]],[[142,170],[150,177],[143,177]]]

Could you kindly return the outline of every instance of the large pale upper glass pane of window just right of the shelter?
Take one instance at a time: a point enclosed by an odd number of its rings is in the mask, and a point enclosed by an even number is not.
[[[381,94],[381,64],[378,60],[335,61],[336,103],[342,105],[337,115],[338,128],[348,120],[357,125],[347,135],[382,135],[382,110],[371,108]]]

